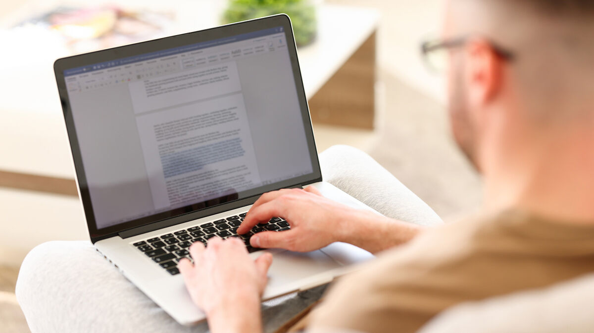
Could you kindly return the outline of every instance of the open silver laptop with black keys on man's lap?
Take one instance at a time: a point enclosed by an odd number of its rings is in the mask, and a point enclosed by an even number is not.
[[[89,236],[183,325],[205,319],[176,267],[192,242],[232,237],[257,198],[324,182],[289,17],[273,15],[65,57],[54,64]],[[275,217],[253,228],[285,232]],[[373,256],[334,243],[273,254],[263,299],[328,283]]]

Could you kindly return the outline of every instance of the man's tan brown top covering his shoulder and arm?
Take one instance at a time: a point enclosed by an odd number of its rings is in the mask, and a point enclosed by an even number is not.
[[[505,212],[428,230],[383,252],[334,284],[307,322],[311,328],[415,332],[457,303],[592,271],[594,221],[577,225]]]

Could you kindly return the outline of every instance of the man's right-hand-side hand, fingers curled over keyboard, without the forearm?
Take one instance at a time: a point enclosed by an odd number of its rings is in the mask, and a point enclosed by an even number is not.
[[[291,229],[281,232],[263,231],[250,239],[258,248],[284,248],[291,251],[314,251],[340,241],[345,231],[343,222],[354,209],[320,195],[315,187],[292,188],[264,193],[249,209],[237,232],[243,234],[258,223],[283,217]]]

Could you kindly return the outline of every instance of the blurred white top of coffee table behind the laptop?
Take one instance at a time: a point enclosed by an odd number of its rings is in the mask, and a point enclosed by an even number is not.
[[[145,4],[147,2],[141,2]],[[163,2],[161,2],[163,3]],[[197,2],[193,2],[194,4]],[[44,1],[45,7],[48,2]],[[96,4],[96,2],[94,2]],[[211,4],[214,11],[220,6]],[[169,34],[199,30],[216,25],[197,20],[184,8],[176,14],[180,24]],[[21,10],[29,12],[30,9]],[[206,12],[204,9],[201,12]],[[370,36],[378,24],[375,9],[321,5],[318,11],[318,36],[314,43],[298,50],[305,93],[311,97],[331,78]],[[1,22],[0,22],[1,24]],[[56,49],[48,36],[31,36],[26,31],[14,36],[0,30],[5,50],[15,50],[0,62],[0,170],[53,177],[74,178],[68,138],[59,103],[52,63],[68,51]],[[4,47],[3,47],[4,48]]]

